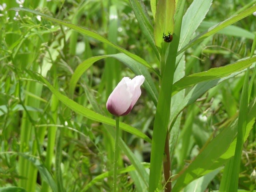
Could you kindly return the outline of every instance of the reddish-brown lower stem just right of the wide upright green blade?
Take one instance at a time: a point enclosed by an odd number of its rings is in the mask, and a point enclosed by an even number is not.
[[[169,134],[166,134],[164,153],[166,158],[164,159],[164,180],[165,188],[164,192],[172,191],[172,181],[171,181],[171,161],[170,161],[170,149],[169,149]]]

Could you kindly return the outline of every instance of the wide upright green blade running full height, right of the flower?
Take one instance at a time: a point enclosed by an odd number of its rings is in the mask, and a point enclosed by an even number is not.
[[[180,28],[184,10],[185,1],[179,2],[178,13],[176,14],[173,41],[170,44],[169,53],[166,64],[162,72],[162,82],[156,107],[156,116],[154,120],[154,130],[152,137],[152,149],[150,157],[150,176],[149,176],[149,192],[154,192],[160,182],[162,173],[162,160],[164,155],[164,144],[170,120],[170,104],[172,83],[174,79],[176,55],[180,39]],[[163,42],[165,43],[165,42]],[[164,59],[164,58],[162,58]],[[161,67],[162,68],[162,67]]]

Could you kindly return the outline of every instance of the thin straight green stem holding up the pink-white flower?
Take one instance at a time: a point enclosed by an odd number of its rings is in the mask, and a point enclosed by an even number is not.
[[[114,149],[114,180],[113,180],[113,192],[116,192],[116,176],[117,176],[117,161],[118,161],[118,141],[119,141],[119,117],[116,117],[116,137],[115,137],[115,149]]]

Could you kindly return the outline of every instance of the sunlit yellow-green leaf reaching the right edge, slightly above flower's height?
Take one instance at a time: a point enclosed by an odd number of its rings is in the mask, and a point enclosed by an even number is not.
[[[180,90],[187,88],[189,86],[198,84],[200,82],[205,82],[209,80],[214,80],[228,76],[234,72],[238,72],[252,65],[253,62],[256,62],[256,56],[253,58],[248,58],[245,60],[238,61],[236,63],[226,65],[223,67],[211,68],[205,72],[195,73],[189,76],[186,76],[174,83],[172,89],[172,95],[176,94]]]

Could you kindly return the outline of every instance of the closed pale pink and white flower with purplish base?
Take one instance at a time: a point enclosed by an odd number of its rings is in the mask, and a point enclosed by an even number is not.
[[[141,95],[140,86],[144,80],[143,75],[136,76],[132,80],[124,77],[108,97],[106,104],[108,111],[115,116],[130,113]]]

